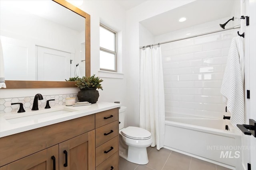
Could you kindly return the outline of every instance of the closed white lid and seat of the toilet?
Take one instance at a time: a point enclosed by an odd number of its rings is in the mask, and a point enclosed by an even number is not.
[[[122,135],[131,139],[146,140],[151,138],[151,133],[140,127],[129,126],[122,129]]]

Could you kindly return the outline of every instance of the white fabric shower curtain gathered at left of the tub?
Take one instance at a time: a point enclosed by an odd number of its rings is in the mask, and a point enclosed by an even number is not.
[[[164,147],[164,78],[161,48],[146,48],[140,59],[140,127],[150,131],[151,147]]]

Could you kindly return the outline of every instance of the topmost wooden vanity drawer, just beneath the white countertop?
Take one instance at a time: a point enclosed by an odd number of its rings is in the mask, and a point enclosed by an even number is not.
[[[95,128],[118,120],[118,108],[102,111],[95,114]]]

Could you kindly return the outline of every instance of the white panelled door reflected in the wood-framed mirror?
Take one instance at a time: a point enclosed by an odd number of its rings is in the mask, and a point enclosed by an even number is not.
[[[71,53],[49,49],[37,48],[37,80],[65,81],[71,77]]]

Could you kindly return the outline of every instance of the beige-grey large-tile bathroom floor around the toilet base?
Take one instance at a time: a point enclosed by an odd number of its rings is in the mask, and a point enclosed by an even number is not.
[[[230,170],[172,150],[148,147],[148,164],[138,165],[120,157],[119,170]]]

